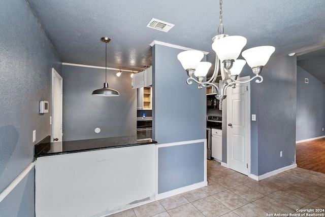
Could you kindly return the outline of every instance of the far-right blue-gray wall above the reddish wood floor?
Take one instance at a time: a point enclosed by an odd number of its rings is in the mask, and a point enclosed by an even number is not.
[[[296,140],[323,136],[322,128],[325,128],[325,84],[297,66]]]

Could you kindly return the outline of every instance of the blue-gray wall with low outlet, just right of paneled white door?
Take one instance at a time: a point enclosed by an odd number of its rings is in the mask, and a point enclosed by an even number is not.
[[[296,71],[296,57],[273,57],[257,87],[258,175],[296,163]]]

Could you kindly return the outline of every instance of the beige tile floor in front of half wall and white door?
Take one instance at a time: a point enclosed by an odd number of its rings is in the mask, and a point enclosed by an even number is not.
[[[207,176],[206,187],[128,209],[110,217],[260,217],[325,213],[316,212],[316,209],[325,209],[324,173],[294,168],[257,182],[216,161],[208,160]],[[314,211],[298,212],[297,209]]]

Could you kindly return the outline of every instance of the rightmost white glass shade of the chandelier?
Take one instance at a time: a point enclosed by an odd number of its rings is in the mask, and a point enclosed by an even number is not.
[[[247,64],[253,68],[265,66],[274,51],[275,48],[273,46],[259,46],[243,51],[242,56],[246,59]]]

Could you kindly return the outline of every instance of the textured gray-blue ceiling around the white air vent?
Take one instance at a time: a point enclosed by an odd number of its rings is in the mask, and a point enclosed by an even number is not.
[[[215,58],[211,39],[219,25],[217,0],[26,1],[63,62],[105,66],[102,37],[112,40],[108,66],[114,68],[151,65],[154,40],[207,51],[211,62]],[[246,37],[244,50],[272,45],[274,55],[296,52],[298,64],[325,83],[325,61],[318,58],[325,53],[324,0],[225,0],[222,8],[224,33]],[[175,26],[169,32],[151,29],[146,27],[151,18]]]

